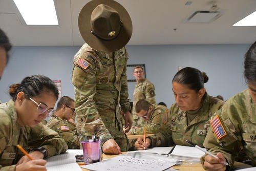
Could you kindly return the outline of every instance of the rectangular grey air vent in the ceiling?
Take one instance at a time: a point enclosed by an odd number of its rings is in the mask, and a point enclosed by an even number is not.
[[[187,23],[210,23],[220,17],[218,11],[196,11],[187,18]]]

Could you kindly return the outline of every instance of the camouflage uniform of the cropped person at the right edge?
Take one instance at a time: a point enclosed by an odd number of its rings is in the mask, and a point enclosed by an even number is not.
[[[234,157],[238,155],[242,146],[253,166],[256,166],[255,109],[256,103],[253,102],[248,89],[231,97],[215,115],[218,115],[226,135],[221,134],[222,137],[217,139],[210,126],[204,146],[211,148],[209,151],[214,154],[223,153],[229,166],[233,165]]]

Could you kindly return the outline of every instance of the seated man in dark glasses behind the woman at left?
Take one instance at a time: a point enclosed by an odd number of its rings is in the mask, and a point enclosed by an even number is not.
[[[74,114],[74,100],[63,96],[59,99],[56,112],[50,117],[46,126],[56,131],[66,141],[69,149],[80,149],[79,135],[76,130],[72,131],[68,123]]]

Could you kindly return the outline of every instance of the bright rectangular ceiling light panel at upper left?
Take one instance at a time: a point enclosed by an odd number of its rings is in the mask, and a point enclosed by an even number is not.
[[[58,25],[53,0],[13,0],[27,25]]]

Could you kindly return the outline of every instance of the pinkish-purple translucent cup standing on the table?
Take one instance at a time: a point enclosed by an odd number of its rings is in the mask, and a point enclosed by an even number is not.
[[[82,141],[82,151],[84,164],[91,164],[101,161],[101,141],[85,142]]]

